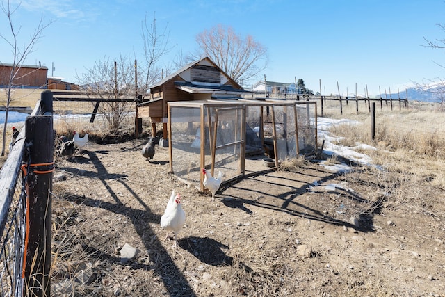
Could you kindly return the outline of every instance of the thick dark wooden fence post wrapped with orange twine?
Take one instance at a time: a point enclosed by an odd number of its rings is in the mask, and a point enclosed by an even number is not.
[[[44,91],[40,115],[25,124],[27,166],[26,241],[24,248],[24,295],[51,296],[51,192],[54,169],[52,93]]]

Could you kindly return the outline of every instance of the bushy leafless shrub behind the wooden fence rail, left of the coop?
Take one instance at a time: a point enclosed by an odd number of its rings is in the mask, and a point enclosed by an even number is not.
[[[111,134],[118,133],[122,122],[133,111],[133,102],[120,101],[134,97],[133,67],[128,57],[120,56],[114,63],[110,58],[104,58],[76,77],[88,96],[101,99],[97,111],[104,115]]]

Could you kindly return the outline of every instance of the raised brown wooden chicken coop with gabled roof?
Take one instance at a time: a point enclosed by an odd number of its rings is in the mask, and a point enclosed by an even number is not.
[[[210,58],[202,58],[150,86],[149,101],[138,104],[138,117],[149,118],[152,135],[156,124],[163,125],[163,139],[168,138],[168,102],[207,100],[222,97],[240,98],[248,93]]]

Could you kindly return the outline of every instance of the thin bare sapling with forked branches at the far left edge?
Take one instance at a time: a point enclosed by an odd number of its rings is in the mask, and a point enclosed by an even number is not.
[[[6,36],[3,35],[3,33],[0,32],[0,38],[6,41],[6,44],[10,47],[11,51],[11,59],[12,59],[12,67],[9,73],[8,77],[8,88],[6,90],[6,109],[5,109],[5,122],[3,123],[3,148],[1,150],[1,156],[5,155],[5,147],[6,147],[6,128],[8,125],[8,113],[9,113],[9,107],[10,103],[13,100],[11,96],[11,90],[15,86],[15,80],[19,79],[18,74],[19,70],[22,68],[22,65],[24,65],[24,61],[26,60],[26,57],[31,54],[34,51],[35,44],[40,40],[42,37],[42,32],[47,26],[49,26],[52,21],[48,23],[43,22],[43,17],[40,17],[40,22],[38,22],[37,27],[35,28],[34,32],[30,35],[29,40],[27,43],[24,44],[24,46],[19,45],[19,33],[21,26],[17,27],[15,26],[13,22],[13,15],[19,8],[20,3],[17,4],[17,6],[12,6],[11,1],[2,1],[0,4],[1,11],[6,16],[8,24],[9,24],[9,33],[10,35]]]

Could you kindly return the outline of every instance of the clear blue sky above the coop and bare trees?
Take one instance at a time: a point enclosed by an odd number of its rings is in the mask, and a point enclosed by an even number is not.
[[[268,49],[268,81],[303,79],[318,91],[321,80],[323,94],[336,94],[338,81],[342,94],[355,93],[357,84],[358,93],[367,85],[369,95],[378,95],[379,86],[382,93],[395,93],[413,81],[444,77],[445,49],[425,47],[423,39],[445,38],[437,26],[445,24],[440,0],[22,0],[13,21],[21,26],[19,42],[26,44],[41,16],[54,20],[26,63],[40,61],[49,75],[76,82],[76,73],[95,61],[120,54],[142,59],[141,22],[146,15],[151,22],[154,13],[158,29],[170,32],[165,65],[181,51],[195,51],[198,33],[223,24]],[[9,36],[3,14],[0,30]],[[10,58],[0,40],[0,62]]]

